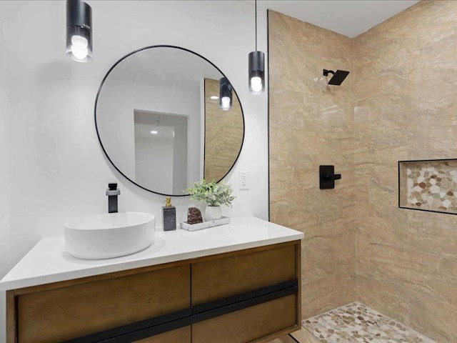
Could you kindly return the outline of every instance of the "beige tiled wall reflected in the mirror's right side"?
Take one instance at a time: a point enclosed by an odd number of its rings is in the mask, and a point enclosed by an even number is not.
[[[243,111],[233,91],[232,108],[219,107],[219,80],[205,79],[205,170],[204,178],[222,179],[238,157],[243,144]]]

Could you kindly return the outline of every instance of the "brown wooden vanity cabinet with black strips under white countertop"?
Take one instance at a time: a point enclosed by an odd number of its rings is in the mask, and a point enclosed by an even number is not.
[[[300,325],[300,242],[7,292],[7,342],[264,342]]]

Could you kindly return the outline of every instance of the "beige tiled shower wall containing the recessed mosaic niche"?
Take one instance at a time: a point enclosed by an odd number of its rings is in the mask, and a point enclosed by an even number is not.
[[[457,157],[457,1],[356,37],[357,297],[457,342],[457,216],[398,209],[397,161]]]

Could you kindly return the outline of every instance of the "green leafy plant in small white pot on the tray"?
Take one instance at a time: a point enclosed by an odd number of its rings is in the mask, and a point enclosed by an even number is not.
[[[206,222],[221,219],[221,205],[231,207],[231,202],[236,198],[231,195],[233,189],[229,184],[224,182],[216,183],[214,180],[207,182],[203,179],[198,182],[191,182],[191,187],[185,189],[184,192],[190,194],[192,196],[191,199],[208,205],[205,210]]]

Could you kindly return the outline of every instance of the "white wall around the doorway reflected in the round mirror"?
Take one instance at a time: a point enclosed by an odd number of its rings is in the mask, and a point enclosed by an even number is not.
[[[191,163],[191,169],[187,172],[189,179],[199,179],[201,159],[199,92],[114,78],[109,78],[104,83],[97,104],[99,135],[111,161],[132,180],[135,180],[136,173],[134,110],[189,116],[189,131],[195,132],[195,135],[189,137],[189,159],[196,162]],[[162,125],[166,125],[168,120],[166,115],[161,116]],[[165,189],[156,188],[156,190],[159,193],[166,193]],[[181,191],[178,194],[181,194]]]

